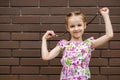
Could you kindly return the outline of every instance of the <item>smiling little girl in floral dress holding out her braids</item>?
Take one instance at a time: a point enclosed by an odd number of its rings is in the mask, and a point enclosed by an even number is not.
[[[51,60],[62,51],[61,63],[63,65],[60,80],[88,80],[90,78],[89,62],[91,52],[109,41],[113,37],[113,29],[109,17],[109,9],[99,10],[105,21],[105,35],[98,39],[90,37],[83,41],[82,35],[86,29],[86,19],[80,11],[71,12],[66,17],[66,30],[71,39],[60,40],[50,52],[47,49],[47,40],[57,37],[54,31],[48,30],[42,37],[42,58]]]

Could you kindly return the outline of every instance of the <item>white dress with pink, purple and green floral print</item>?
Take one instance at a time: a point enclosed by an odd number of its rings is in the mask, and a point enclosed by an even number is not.
[[[90,78],[89,62],[92,47],[93,37],[86,39],[83,42],[70,42],[60,40],[58,46],[63,50],[61,63],[60,80],[88,80]]]

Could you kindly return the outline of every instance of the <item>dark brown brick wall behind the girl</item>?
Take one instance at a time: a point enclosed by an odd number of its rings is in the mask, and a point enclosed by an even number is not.
[[[110,8],[115,36],[92,55],[90,80],[120,80],[120,0],[0,0],[0,80],[59,80],[62,55],[41,59],[41,37],[48,29],[65,31],[65,14],[81,9],[89,21],[100,7]],[[104,34],[99,15],[84,38]],[[57,41],[48,42],[49,49]]]

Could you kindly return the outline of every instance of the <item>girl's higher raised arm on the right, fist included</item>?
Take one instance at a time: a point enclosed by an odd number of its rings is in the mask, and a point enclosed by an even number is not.
[[[105,21],[105,35],[93,41],[94,48],[103,45],[113,37],[113,28],[109,17],[109,9],[107,7],[104,7],[100,9],[100,13]]]

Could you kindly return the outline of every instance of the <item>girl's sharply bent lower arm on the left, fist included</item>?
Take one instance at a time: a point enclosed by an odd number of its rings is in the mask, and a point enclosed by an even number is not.
[[[59,46],[56,46],[50,52],[47,49],[47,40],[55,37],[55,33],[53,31],[47,31],[44,36],[42,37],[42,46],[41,46],[41,53],[43,60],[51,60],[55,58],[61,51]]]

